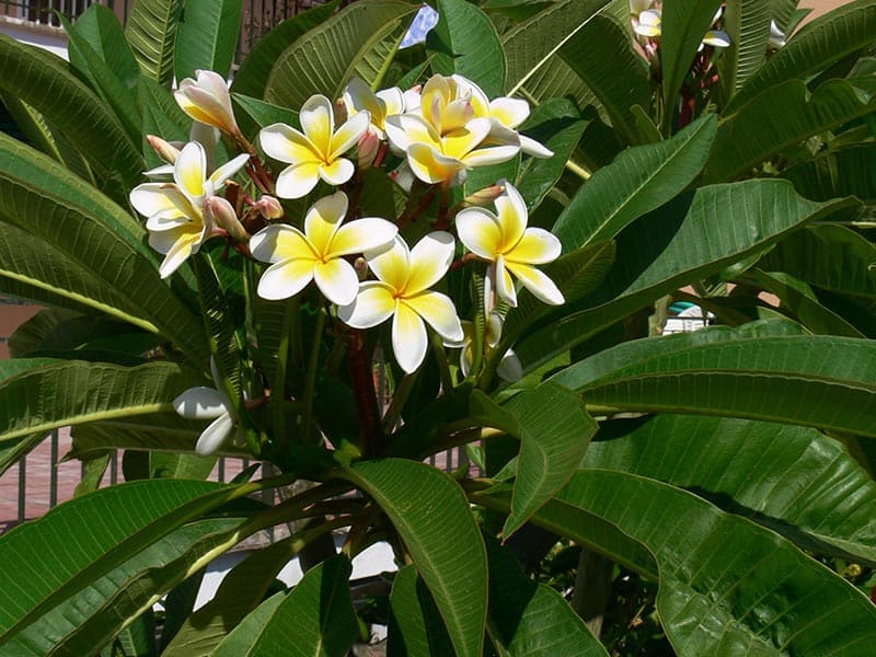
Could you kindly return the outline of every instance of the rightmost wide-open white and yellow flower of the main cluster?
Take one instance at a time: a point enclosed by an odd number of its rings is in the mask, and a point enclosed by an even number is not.
[[[486,208],[465,208],[457,215],[460,241],[491,263],[488,277],[496,293],[509,304],[517,306],[511,275],[541,301],[552,306],[564,303],[556,285],[532,266],[560,257],[560,240],[544,229],[527,228],[523,197],[506,181],[498,184],[505,187],[505,193],[496,198],[496,215]]]

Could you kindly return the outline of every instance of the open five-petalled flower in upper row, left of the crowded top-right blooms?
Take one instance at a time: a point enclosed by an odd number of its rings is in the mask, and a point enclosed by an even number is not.
[[[260,132],[262,148],[280,162],[289,164],[277,176],[280,198],[307,196],[320,178],[330,185],[343,185],[355,166],[344,158],[368,129],[371,116],[357,112],[335,130],[332,102],[324,95],[311,96],[298,115],[303,132],[286,124],[274,124]]]

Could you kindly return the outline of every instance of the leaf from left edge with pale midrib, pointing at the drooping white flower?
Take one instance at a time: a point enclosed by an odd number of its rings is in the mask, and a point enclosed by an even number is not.
[[[200,382],[171,362],[125,368],[50,358],[2,361],[0,441],[71,424],[170,411],[176,395]]]

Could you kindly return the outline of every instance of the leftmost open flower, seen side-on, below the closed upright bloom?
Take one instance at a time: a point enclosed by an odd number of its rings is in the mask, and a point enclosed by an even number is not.
[[[246,154],[238,155],[208,176],[204,147],[192,141],[176,158],[173,183],[145,183],[131,191],[130,204],[147,217],[149,245],[165,255],[159,267],[162,278],[198,252],[214,228],[209,215],[205,218],[205,200],[221,189],[247,159]]]

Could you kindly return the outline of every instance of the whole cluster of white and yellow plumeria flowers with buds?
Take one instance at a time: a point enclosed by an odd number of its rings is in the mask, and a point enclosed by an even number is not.
[[[560,242],[549,231],[527,226],[526,203],[506,181],[498,181],[486,194],[495,212],[465,207],[454,218],[456,238],[449,230],[436,230],[413,247],[387,219],[348,217],[349,200],[343,191],[316,200],[299,226],[284,221],[280,201],[267,194],[273,191],[279,198],[301,198],[320,181],[344,185],[354,177],[357,164],[377,165],[387,149],[403,162],[393,172],[396,181],[417,178],[445,188],[460,184],[468,170],[507,161],[521,150],[550,157],[550,150],[516,130],[529,115],[526,101],[491,101],[476,84],[459,76],[434,76],[422,90],[377,93],[354,79],[346,88],[343,105],[338,105],[346,114],[339,127],[336,106],[327,97],[314,95],[301,107],[300,130],[274,124],[261,131],[262,150],[287,164],[276,180],[270,180],[257,151],[238,127],[220,76],[198,71],[196,80],[181,82],[175,97],[195,119],[192,140],[169,143],[150,136],[152,148],[166,164],[147,175],[164,176],[164,181],[141,184],[130,194],[134,208],[147,218],[150,245],[165,255],[159,267],[163,278],[210,237],[224,237],[241,253],[269,264],[257,285],[257,293],[265,299],[287,299],[314,283],[336,307],[336,316],[353,328],[370,328],[392,319],[393,353],[408,373],[419,367],[427,353],[427,324],[446,346],[463,348],[463,373],[470,367],[464,354],[471,330],[466,332],[452,299],[433,289],[454,260],[457,238],[468,250],[466,261],[487,266],[483,300],[487,346],[497,344],[502,331],[497,309],[517,304],[519,286],[546,303],[564,302],[554,283],[537,268],[560,256]],[[246,152],[209,173],[220,131]],[[257,200],[243,195],[247,211],[257,210],[267,221],[253,235],[244,229],[232,204],[220,195],[241,170],[263,192]],[[166,176],[172,176],[172,182]],[[358,263],[367,265],[367,272],[365,266],[356,267]],[[512,354],[506,355],[498,373],[520,376]],[[198,394],[204,399],[187,403]],[[208,404],[211,394],[221,397],[218,391],[196,389],[180,405],[195,407],[197,411],[191,413],[195,417],[205,417],[208,407],[218,408],[222,416],[217,423],[222,426],[216,429],[224,434],[230,426],[230,406],[220,399]]]

